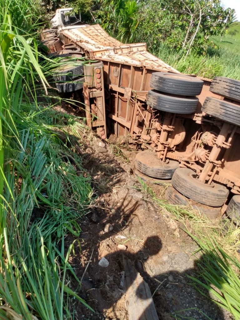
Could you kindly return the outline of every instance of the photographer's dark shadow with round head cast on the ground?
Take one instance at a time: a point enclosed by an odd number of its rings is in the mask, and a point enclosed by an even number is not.
[[[104,314],[105,310],[110,307],[115,312],[117,300],[121,299],[121,296],[125,294],[125,308],[128,310],[128,314],[125,313],[119,316],[119,312],[116,311],[114,319],[224,320],[225,317],[222,310],[211,301],[212,297],[210,297],[209,292],[201,288],[201,294],[194,282],[189,278],[199,277],[198,266],[212,258],[211,253],[204,254],[197,259],[193,268],[182,272],[173,269],[167,273],[159,273],[152,276],[146,271],[146,262],[153,256],[158,255],[161,250],[161,239],[158,236],[150,236],[136,253],[118,250],[107,254],[105,259],[108,260],[111,267],[108,266],[105,268],[106,271],[104,270],[107,275],[106,278],[102,277],[98,283],[96,282],[98,276],[95,277],[94,281],[90,277],[90,272],[83,279],[83,290],[91,292],[92,299],[98,301],[98,312]],[[159,264],[161,264],[161,261],[159,261]],[[115,270],[113,268],[114,265],[117,266]],[[113,278],[113,271],[118,272],[120,275]],[[99,272],[99,277],[101,275],[102,270]],[[105,279],[107,281],[103,283]],[[142,279],[142,281],[139,279]],[[118,285],[116,285],[116,282],[118,282]],[[149,293],[146,294],[146,287],[149,288],[150,295]],[[108,300],[106,300],[107,295],[103,294],[106,291],[109,294]],[[153,302],[151,300],[152,296]],[[95,318],[92,317],[92,319]]]

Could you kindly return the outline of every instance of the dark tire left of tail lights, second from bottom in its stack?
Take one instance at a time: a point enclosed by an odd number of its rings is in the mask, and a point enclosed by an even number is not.
[[[78,66],[71,66],[71,67],[64,67],[61,69],[58,69],[55,71],[53,74],[53,79],[56,82],[65,82],[65,81],[72,81],[79,76],[84,75],[84,67],[83,65],[78,65]]]

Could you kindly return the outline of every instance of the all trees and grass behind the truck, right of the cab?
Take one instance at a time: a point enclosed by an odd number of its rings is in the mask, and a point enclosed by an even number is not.
[[[180,72],[240,79],[238,41],[232,44],[234,52],[219,48],[229,37],[233,43],[239,24],[234,11],[224,11],[219,1],[102,0],[97,8],[96,22],[109,34],[123,42],[146,42],[150,52]]]

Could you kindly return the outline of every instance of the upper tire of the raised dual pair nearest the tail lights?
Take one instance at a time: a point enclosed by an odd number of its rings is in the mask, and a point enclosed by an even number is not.
[[[150,87],[160,92],[180,96],[196,96],[201,93],[203,81],[191,76],[172,72],[154,72],[150,79]]]

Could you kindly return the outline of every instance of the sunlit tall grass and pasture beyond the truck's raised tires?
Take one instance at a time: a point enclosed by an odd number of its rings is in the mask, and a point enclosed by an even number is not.
[[[232,35],[235,30],[236,34]],[[212,45],[202,55],[191,52],[186,56],[186,52],[175,52],[164,43],[159,45],[158,52],[153,53],[182,73],[209,79],[223,76],[240,80],[240,22],[229,28],[225,36],[209,40]]]

